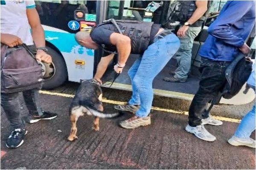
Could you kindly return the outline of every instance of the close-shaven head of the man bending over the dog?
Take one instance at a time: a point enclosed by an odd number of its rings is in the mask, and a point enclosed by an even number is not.
[[[92,40],[90,37],[90,33],[86,31],[79,31],[75,35],[76,42],[78,42],[80,45],[90,48],[90,49],[98,49],[99,45]]]

